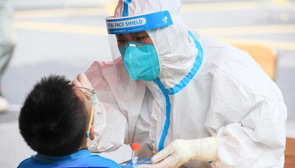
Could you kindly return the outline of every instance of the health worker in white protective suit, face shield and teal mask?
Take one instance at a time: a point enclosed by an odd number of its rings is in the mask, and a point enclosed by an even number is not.
[[[95,118],[104,123],[94,126],[95,151],[140,143],[152,167],[282,167],[279,88],[248,53],[190,31],[180,8],[121,0],[106,18],[113,62],[94,62],[73,81],[94,88],[105,116]]]

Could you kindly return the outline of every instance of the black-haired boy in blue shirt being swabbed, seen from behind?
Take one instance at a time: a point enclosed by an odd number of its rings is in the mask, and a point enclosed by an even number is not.
[[[93,105],[69,80],[42,78],[26,97],[18,118],[24,141],[37,154],[18,167],[120,167],[87,150],[94,140],[93,117]]]

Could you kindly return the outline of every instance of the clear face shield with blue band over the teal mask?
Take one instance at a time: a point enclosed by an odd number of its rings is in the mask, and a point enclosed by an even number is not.
[[[145,31],[171,25],[169,12],[121,18],[112,16],[106,18],[106,24],[114,73],[121,91],[130,93],[128,88],[132,88],[136,80],[154,80],[160,73],[159,59],[155,46]],[[134,89],[136,88],[132,88]]]

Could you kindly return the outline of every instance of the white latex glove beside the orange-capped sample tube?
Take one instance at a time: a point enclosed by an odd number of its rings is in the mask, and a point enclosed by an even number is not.
[[[176,139],[152,157],[153,165],[137,167],[180,167],[189,160],[214,161],[217,159],[218,147],[218,138],[215,136],[190,140]]]

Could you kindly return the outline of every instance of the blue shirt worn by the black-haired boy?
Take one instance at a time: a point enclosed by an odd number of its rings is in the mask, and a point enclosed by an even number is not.
[[[78,152],[66,156],[54,157],[41,154],[33,155],[30,158],[23,160],[19,165],[22,167],[121,167],[116,162],[93,155],[86,149],[81,149]]]

